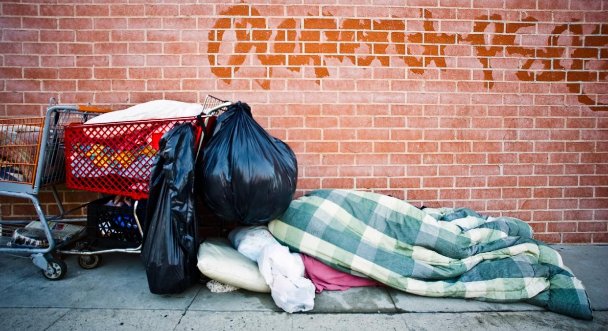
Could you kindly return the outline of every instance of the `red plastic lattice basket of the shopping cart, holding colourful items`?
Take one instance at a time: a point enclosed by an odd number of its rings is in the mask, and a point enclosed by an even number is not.
[[[207,132],[213,120],[206,120]],[[148,197],[158,142],[182,123],[192,123],[200,134],[196,117],[66,126],[67,186],[133,199]]]

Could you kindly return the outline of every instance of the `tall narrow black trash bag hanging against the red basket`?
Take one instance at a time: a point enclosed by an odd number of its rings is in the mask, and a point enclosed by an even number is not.
[[[152,166],[142,262],[154,294],[184,292],[198,278],[194,146],[192,125],[178,125],[162,136]]]

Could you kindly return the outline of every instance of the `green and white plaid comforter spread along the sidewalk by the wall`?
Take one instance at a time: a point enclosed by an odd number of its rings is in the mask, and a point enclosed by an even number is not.
[[[444,217],[381,194],[320,189],[268,227],[292,251],[405,292],[527,301],[593,319],[581,281],[529,225],[462,211]]]

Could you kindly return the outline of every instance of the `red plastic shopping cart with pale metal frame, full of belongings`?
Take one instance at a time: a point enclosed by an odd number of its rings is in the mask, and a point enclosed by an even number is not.
[[[139,236],[143,238],[137,207],[139,199],[148,197],[150,172],[160,138],[177,125],[191,123],[197,134],[196,160],[198,160],[202,146],[213,134],[216,117],[226,111],[230,104],[232,103],[229,101],[207,95],[203,104],[204,111],[196,117],[67,126],[65,134],[67,186],[132,198],[134,224],[131,221],[122,224],[129,226],[131,234],[136,228],[139,230]],[[108,218],[108,214],[105,215]],[[78,264],[88,269],[97,267],[101,261],[100,254],[139,254],[141,244],[127,248],[107,247],[109,237],[124,237],[126,231],[112,223],[111,220],[108,222],[97,219],[89,219],[88,222],[89,230],[92,228],[95,236],[102,236],[105,245],[97,245],[95,239],[89,236],[90,242],[80,243],[77,250],[62,250],[61,253],[77,254]],[[123,244],[116,242],[116,246],[124,246]],[[105,249],[98,249],[100,247]]]

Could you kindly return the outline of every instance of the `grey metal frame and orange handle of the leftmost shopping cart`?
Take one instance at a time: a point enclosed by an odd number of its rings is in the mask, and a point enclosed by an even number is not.
[[[52,236],[49,219],[59,217],[47,217],[41,208],[38,200],[38,193],[41,188],[50,187],[54,196],[55,202],[60,211],[59,216],[63,216],[64,209],[61,199],[57,193],[55,185],[63,183],[65,180],[65,167],[63,159],[63,129],[68,123],[83,123],[89,118],[92,118],[103,112],[108,112],[105,109],[97,109],[90,106],[76,105],[58,105],[55,98],[49,101],[49,107],[44,117],[33,118],[7,118],[0,120],[0,125],[4,128],[40,128],[38,132],[38,141],[32,142],[29,145],[20,145],[15,140],[15,145],[2,145],[2,151],[27,152],[32,154],[32,163],[6,162],[2,161],[2,168],[6,171],[7,166],[14,168],[21,167],[27,169],[21,179],[11,177],[0,179],[0,196],[17,197],[30,200],[33,205],[38,219],[40,220],[41,230],[44,231],[47,247],[11,247],[9,244],[10,238],[4,234],[9,234],[10,231],[16,230],[19,225],[27,224],[32,220],[0,220],[0,228],[2,228],[2,236],[0,236],[0,253],[10,254],[29,254],[33,263],[42,269],[43,275],[51,280],[63,278],[66,274],[67,266],[65,262],[57,258],[57,245]],[[32,131],[34,132],[34,131]],[[2,144],[7,144],[6,140]],[[19,150],[18,150],[19,149]],[[71,219],[71,222],[81,221],[81,219]],[[63,243],[67,244],[67,243]],[[21,255],[16,255],[23,257]]]

